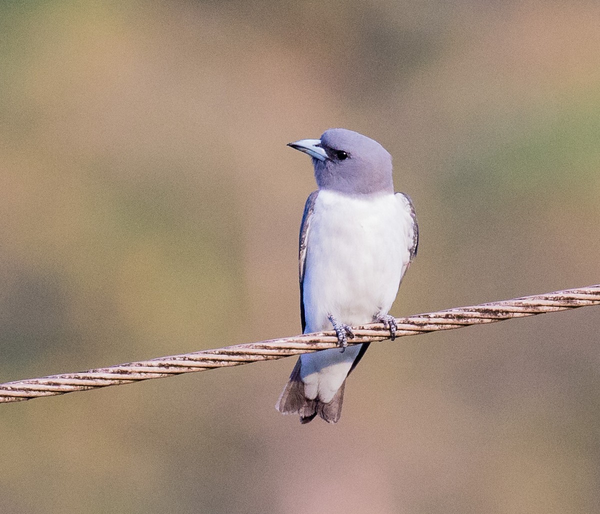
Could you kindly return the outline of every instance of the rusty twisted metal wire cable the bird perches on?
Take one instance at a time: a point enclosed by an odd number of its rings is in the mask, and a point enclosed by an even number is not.
[[[397,318],[396,336],[457,329],[474,324],[493,323],[494,321],[544,314],[544,312],[565,311],[599,304],[600,284],[589,285],[554,293],[536,294],[512,300]],[[390,338],[389,330],[381,323],[353,327],[353,332],[355,337],[349,340],[349,344],[385,341]],[[181,373],[239,366],[259,360],[281,359],[290,355],[335,347],[337,347],[335,332],[316,332],[238,344],[217,350],[202,350],[158,357],[77,373],[28,378],[0,384],[0,402],[16,402],[39,396],[55,396],[98,387],[118,386],[149,378],[172,377]]]

